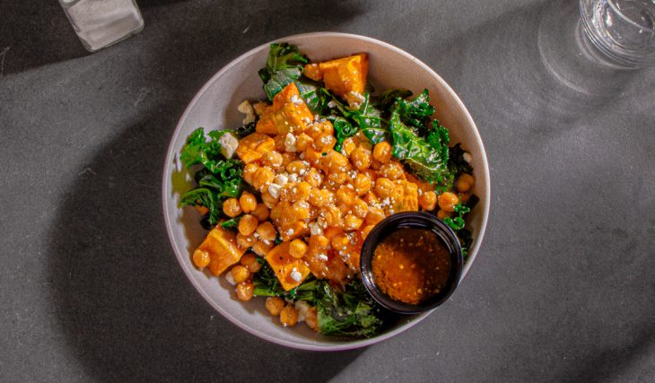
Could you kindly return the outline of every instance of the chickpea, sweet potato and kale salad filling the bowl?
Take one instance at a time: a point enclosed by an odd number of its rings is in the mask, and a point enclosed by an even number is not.
[[[194,206],[210,230],[191,261],[225,274],[238,300],[266,297],[282,326],[304,321],[354,337],[384,328],[359,256],[390,214],[432,212],[465,251],[471,244],[470,154],[449,147],[427,91],[372,91],[368,60],[312,63],[293,45],[272,44],[258,73],[267,100],[242,102],[238,129],[198,128],[180,153],[196,170],[180,205]]]

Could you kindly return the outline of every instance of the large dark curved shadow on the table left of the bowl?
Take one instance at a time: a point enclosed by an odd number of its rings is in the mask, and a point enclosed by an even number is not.
[[[321,23],[334,26],[363,12],[351,5],[325,4],[306,10],[310,16],[301,20],[301,7],[313,5],[257,4],[259,8],[250,9],[253,22],[273,25],[296,19],[296,25],[281,29],[284,33],[315,30]],[[167,7],[145,10],[160,29],[151,41],[156,57],[149,57],[142,70],[152,88],[139,104],[144,108],[139,121],[98,149],[58,206],[47,249],[53,315],[72,354],[94,379],[253,381],[266,374],[267,380],[327,380],[362,350],[301,352],[233,326],[188,283],[166,236],[161,175],[174,126],[193,94],[220,66],[259,39],[274,38],[260,33],[229,41],[235,15],[222,15],[218,5],[205,6],[216,19],[203,19],[183,34],[176,12]]]

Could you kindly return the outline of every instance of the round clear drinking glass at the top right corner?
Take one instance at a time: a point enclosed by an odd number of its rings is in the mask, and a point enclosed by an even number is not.
[[[655,0],[581,0],[582,28],[610,64],[655,64]]]

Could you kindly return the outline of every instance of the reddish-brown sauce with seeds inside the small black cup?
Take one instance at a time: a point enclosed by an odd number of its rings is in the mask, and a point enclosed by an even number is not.
[[[371,265],[382,292],[393,300],[419,304],[448,282],[450,252],[432,231],[403,228],[380,242]]]

